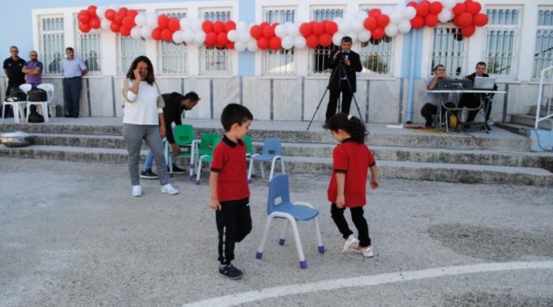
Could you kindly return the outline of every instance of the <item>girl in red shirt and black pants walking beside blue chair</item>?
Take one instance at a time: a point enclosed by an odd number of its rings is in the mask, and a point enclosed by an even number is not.
[[[330,117],[324,128],[330,130],[332,137],[340,142],[332,152],[332,177],[328,186],[328,201],[332,203],[332,219],[345,239],[341,252],[347,252],[353,247],[355,252],[365,257],[373,257],[367,221],[363,217],[368,170],[371,170],[371,188],[376,189],[380,184],[377,179],[375,157],[364,142],[365,125],[357,117],[339,113]],[[359,239],[353,235],[344,219],[346,208],[350,208]]]

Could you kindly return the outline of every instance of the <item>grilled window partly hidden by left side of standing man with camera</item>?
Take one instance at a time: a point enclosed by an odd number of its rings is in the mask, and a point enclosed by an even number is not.
[[[344,9],[342,8],[317,8],[312,10],[312,20],[324,21],[332,20],[336,17],[342,17]],[[328,57],[338,50],[338,46],[333,43],[328,47],[317,46],[309,50],[310,52],[310,72],[314,75],[330,72],[328,69]]]

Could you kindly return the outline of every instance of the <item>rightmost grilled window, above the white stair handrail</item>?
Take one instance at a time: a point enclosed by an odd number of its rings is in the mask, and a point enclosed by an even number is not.
[[[541,8],[538,10],[532,77],[540,77],[541,71],[550,66],[553,66],[553,8]]]

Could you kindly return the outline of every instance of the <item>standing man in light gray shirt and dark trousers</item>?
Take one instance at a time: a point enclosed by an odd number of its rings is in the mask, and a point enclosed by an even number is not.
[[[86,75],[88,69],[81,59],[75,57],[73,48],[66,48],[65,55],[66,59],[62,60],[65,117],[77,118],[81,98],[81,77]]]

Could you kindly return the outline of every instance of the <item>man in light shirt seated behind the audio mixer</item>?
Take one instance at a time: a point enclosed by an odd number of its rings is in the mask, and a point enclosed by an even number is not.
[[[427,78],[427,90],[436,90],[438,89],[438,81],[449,79],[445,73],[444,66],[441,64],[434,68],[433,73],[433,76]],[[422,109],[420,109],[420,115],[427,120],[427,123],[425,123],[424,126],[432,127],[433,115],[438,114],[438,104],[442,103],[441,95],[446,94],[427,92],[427,95],[424,97],[424,101],[426,103],[422,106]],[[452,99],[450,99],[451,95],[447,95],[447,97],[444,98],[447,99],[445,106],[448,108],[455,108],[455,104],[450,102],[452,101]],[[444,112],[445,110],[442,108],[442,115]]]

